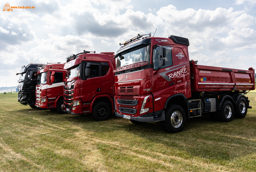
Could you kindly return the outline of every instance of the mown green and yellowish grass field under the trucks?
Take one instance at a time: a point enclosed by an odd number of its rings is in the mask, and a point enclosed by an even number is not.
[[[182,132],[160,122],[134,125],[112,116],[36,110],[0,94],[0,171],[180,172],[256,171],[256,91],[245,118],[222,123],[208,115]]]

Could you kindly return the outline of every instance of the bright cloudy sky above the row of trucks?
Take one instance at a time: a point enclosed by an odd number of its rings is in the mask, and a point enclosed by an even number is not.
[[[189,39],[200,65],[256,69],[256,0],[6,0],[0,10],[0,87],[21,66],[115,52],[139,34]],[[27,9],[18,8],[31,7]],[[33,8],[34,7],[34,8]]]

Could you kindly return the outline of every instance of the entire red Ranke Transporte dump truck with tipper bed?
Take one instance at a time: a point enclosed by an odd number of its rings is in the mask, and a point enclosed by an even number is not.
[[[198,65],[189,60],[187,38],[140,35],[116,52],[115,114],[134,124],[161,121],[167,132],[183,130],[186,118],[209,113],[230,122],[246,116],[255,89],[254,69]]]

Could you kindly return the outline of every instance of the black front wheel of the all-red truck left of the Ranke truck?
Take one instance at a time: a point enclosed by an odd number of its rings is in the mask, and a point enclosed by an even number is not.
[[[96,121],[107,120],[111,115],[111,108],[106,102],[98,102],[92,110],[92,118]]]

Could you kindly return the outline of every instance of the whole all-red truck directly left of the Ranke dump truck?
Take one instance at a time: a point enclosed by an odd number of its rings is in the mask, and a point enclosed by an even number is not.
[[[63,109],[71,114],[92,114],[106,120],[114,113],[114,52],[84,51],[66,58]]]

